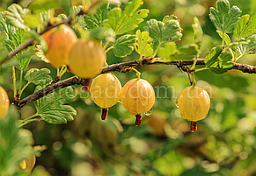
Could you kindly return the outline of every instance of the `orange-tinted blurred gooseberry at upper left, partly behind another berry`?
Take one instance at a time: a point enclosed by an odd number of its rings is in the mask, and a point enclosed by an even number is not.
[[[45,53],[53,67],[66,64],[69,50],[77,42],[77,35],[67,25],[57,26],[42,34],[48,43],[48,53]]]

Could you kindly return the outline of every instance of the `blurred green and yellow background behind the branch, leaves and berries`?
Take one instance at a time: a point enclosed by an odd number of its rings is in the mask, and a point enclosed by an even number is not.
[[[24,7],[29,3],[15,2]],[[1,11],[12,3],[2,0]],[[211,47],[221,43],[208,18],[209,7],[215,7],[215,3],[215,0],[145,0],[143,8],[150,10],[145,21],[176,15],[183,28],[179,46],[194,43],[191,25],[196,16],[204,32],[203,58]],[[243,15],[256,10],[254,3],[255,0],[230,0],[230,5],[237,5]],[[141,30],[143,25],[145,22],[139,26]],[[107,58],[113,64],[138,59],[138,55],[132,53],[120,59],[110,51]],[[256,65],[253,55],[238,61]],[[48,67],[55,77],[56,71],[50,64],[32,60],[27,70],[32,67]],[[195,73],[197,85],[206,88],[211,97],[211,106],[208,116],[198,122],[198,131],[192,133],[189,122],[180,117],[175,105],[179,93],[190,85],[187,74],[175,66],[147,66],[138,70],[143,79],[150,81],[157,96],[151,115],[143,115],[140,127],[135,127],[135,116],[121,103],[110,109],[106,122],[101,121],[101,109],[91,102],[89,94],[81,93],[77,87],[77,96],[70,103],[77,109],[73,122],[62,125],[36,122],[24,127],[32,131],[35,145],[47,146],[36,158],[36,167],[45,168],[52,176],[256,175],[255,75],[235,70],[225,74]],[[65,74],[62,79],[71,75]],[[135,72],[115,75],[122,86],[135,78]],[[11,97],[10,67],[1,70],[0,85]],[[169,88],[165,91],[162,87]],[[31,95],[33,89],[30,85],[23,96]],[[20,110],[21,118],[34,112],[33,104],[28,105]]]

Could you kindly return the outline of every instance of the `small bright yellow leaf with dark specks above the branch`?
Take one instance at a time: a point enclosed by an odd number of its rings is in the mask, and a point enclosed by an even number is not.
[[[148,57],[153,55],[153,48],[150,43],[152,39],[150,38],[149,32],[136,31],[137,40],[134,44],[135,52],[139,53],[141,57]]]

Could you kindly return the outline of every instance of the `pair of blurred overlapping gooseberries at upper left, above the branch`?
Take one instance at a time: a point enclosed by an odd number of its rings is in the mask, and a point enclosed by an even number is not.
[[[67,25],[57,26],[45,32],[42,37],[48,44],[45,56],[53,67],[66,65],[73,74],[84,79],[90,79],[101,72],[105,53],[99,41],[77,39],[75,32]]]

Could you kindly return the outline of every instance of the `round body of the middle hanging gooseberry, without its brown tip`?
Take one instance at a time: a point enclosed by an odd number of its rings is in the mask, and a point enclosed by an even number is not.
[[[155,102],[155,92],[150,82],[143,79],[128,81],[121,90],[121,103],[132,115],[149,111]]]

